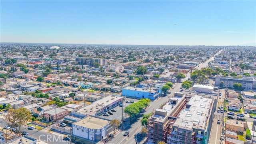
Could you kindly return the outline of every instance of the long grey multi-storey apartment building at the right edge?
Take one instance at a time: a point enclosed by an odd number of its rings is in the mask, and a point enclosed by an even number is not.
[[[252,76],[244,76],[242,78],[216,76],[215,85],[222,88],[234,88],[234,83],[242,84],[243,90],[256,90],[256,78]]]

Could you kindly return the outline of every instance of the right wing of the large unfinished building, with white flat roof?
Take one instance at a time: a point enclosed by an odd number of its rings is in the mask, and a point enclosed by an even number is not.
[[[172,125],[168,144],[208,144],[214,108],[213,99],[193,96]]]

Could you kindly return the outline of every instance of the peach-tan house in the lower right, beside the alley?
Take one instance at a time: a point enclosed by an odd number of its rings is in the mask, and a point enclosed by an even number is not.
[[[230,130],[232,132],[241,132],[243,133],[247,128],[247,122],[241,120],[226,120],[226,130]]]

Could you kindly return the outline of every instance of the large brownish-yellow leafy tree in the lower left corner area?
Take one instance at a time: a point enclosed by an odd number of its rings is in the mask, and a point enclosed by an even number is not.
[[[26,108],[18,108],[16,110],[10,109],[8,110],[8,113],[4,115],[4,118],[6,119],[7,123],[10,125],[16,125],[18,126],[18,133],[20,135],[20,127],[24,124],[27,124],[28,120],[32,119],[31,112],[27,110]]]

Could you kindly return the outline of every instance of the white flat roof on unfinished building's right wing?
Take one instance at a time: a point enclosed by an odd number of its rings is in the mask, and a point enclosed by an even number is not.
[[[192,130],[194,127],[199,127],[202,130],[207,128],[206,124],[209,119],[210,111],[212,110],[213,100],[203,98],[201,96],[193,96],[186,104],[180,115],[178,116],[174,126],[184,127]]]

